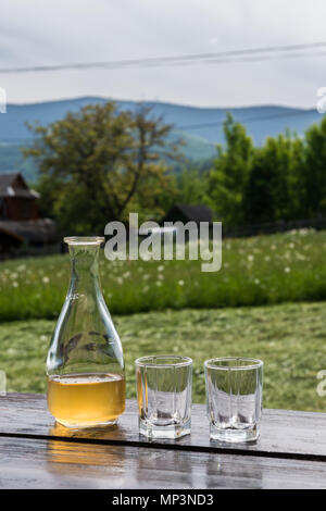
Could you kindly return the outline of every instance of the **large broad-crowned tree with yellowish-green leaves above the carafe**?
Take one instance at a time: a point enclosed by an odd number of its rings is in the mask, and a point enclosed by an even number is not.
[[[126,220],[148,182],[155,195],[168,182],[166,159],[177,158],[172,126],[150,109],[117,112],[115,103],[88,105],[37,135],[25,157],[39,169],[42,207],[64,230],[99,233],[111,220]]]

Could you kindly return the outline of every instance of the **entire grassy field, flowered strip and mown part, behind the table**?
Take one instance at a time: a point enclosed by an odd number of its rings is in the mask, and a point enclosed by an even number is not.
[[[203,361],[265,361],[264,406],[325,411],[326,233],[299,230],[223,242],[223,266],[200,261],[106,261],[100,274],[121,335],[127,396],[137,357],[176,352],[195,362],[193,401],[204,401]],[[0,263],[0,370],[9,391],[46,390],[45,360],[70,276],[68,256]]]

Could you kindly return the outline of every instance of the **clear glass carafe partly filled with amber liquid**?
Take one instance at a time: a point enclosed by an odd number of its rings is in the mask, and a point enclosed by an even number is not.
[[[120,337],[99,281],[104,238],[64,241],[71,283],[48,352],[48,407],[67,427],[115,424],[125,409],[125,375]]]

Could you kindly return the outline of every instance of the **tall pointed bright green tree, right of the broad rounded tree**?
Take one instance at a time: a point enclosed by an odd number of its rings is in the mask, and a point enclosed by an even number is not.
[[[217,158],[210,173],[210,195],[223,222],[237,225],[243,222],[242,199],[253,144],[244,126],[236,123],[231,114],[224,123],[224,136],[225,147],[217,146]]]

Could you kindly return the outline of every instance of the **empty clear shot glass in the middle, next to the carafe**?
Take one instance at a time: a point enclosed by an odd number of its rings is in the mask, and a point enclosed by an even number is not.
[[[136,360],[139,433],[149,438],[190,434],[192,360],[151,356]]]

